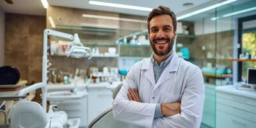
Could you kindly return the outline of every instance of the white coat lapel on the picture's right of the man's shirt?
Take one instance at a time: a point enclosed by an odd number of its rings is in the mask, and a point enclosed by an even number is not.
[[[179,63],[180,63],[180,58],[178,57],[178,55],[176,54],[176,52],[173,52],[173,57],[172,60],[170,61],[170,63],[168,64],[168,66],[164,69],[163,73],[161,74],[161,76],[159,77],[156,86],[154,87],[154,90],[160,86],[161,84],[163,84],[165,81],[167,81],[168,79],[171,79],[171,74],[172,72],[176,72],[178,70],[179,67]],[[153,91],[154,91],[153,90]]]

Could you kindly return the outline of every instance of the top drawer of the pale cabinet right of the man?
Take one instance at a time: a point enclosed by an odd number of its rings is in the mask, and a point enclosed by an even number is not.
[[[217,92],[217,97],[256,107],[256,99],[252,99],[250,97],[243,97],[240,95],[233,95],[230,93],[223,93],[223,92]]]

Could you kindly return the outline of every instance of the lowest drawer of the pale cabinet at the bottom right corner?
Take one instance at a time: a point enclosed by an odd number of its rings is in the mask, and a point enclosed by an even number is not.
[[[255,128],[256,123],[244,120],[237,116],[216,111],[216,128]]]

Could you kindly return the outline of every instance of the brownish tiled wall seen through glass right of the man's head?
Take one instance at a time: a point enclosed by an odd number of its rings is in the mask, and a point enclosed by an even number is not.
[[[191,60],[199,67],[205,67],[207,63],[224,64],[229,68],[232,68],[232,61],[228,60],[215,60],[207,58],[207,52],[212,53],[212,57],[218,56],[218,58],[232,58],[233,54],[233,40],[234,31],[222,31],[220,33],[211,33],[206,35],[198,35],[195,38],[178,37],[178,43],[182,43],[184,47],[189,48],[191,54]],[[203,50],[202,47],[205,47]]]

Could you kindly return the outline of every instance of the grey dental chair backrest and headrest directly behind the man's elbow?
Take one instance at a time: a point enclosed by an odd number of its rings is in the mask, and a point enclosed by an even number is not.
[[[122,83],[116,86],[113,92],[113,99],[116,98],[117,93],[122,87]],[[119,120],[115,120],[113,117],[112,108],[106,109],[106,111],[100,113],[100,115],[96,116],[92,122],[88,125],[88,128],[131,128],[131,124],[127,124],[125,122],[120,122]]]

